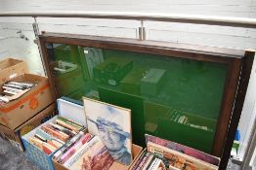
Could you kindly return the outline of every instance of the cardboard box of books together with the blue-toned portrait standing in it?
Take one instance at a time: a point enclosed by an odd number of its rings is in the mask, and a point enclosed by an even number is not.
[[[83,98],[88,132],[53,156],[55,169],[127,170],[142,148],[132,145],[131,110]]]

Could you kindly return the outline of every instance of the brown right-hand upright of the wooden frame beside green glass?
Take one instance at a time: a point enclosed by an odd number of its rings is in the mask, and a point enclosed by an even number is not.
[[[228,132],[228,130],[225,129],[229,128],[230,119],[232,117],[235,93],[239,80],[240,66],[241,60],[237,58],[235,58],[232,63],[229,64],[212,150],[212,154],[218,157],[221,157],[223,153],[226,135]]]

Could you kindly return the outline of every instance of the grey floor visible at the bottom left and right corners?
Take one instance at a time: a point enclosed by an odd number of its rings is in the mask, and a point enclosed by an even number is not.
[[[238,170],[239,167],[232,162],[227,170]],[[30,162],[24,153],[14,148],[8,141],[0,137],[0,170],[40,170]]]

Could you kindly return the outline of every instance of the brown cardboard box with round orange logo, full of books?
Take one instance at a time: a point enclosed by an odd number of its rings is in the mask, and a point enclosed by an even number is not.
[[[16,129],[54,102],[48,78],[23,74],[0,85],[0,123]]]

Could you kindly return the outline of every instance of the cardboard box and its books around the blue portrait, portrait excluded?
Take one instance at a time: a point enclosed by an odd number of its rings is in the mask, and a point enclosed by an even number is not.
[[[91,141],[91,139],[95,138]],[[97,141],[97,142],[95,142]],[[101,143],[97,144],[97,143]],[[97,147],[94,147],[99,145]],[[105,151],[105,156],[103,156],[103,152],[97,153],[96,151]],[[132,154],[134,160],[139,156],[142,152],[143,148],[137,145],[133,145]],[[96,153],[96,154],[95,154]],[[87,163],[84,162],[85,157]],[[90,158],[89,158],[90,157]],[[93,136],[90,133],[84,135],[84,137],[80,138],[77,143],[73,145],[70,149],[66,150],[60,157],[53,156],[53,163],[55,170],[68,170],[68,169],[101,169],[101,170],[128,170],[130,165],[122,164],[118,161],[114,161],[114,159],[109,154],[106,146],[99,138],[99,136]]]

